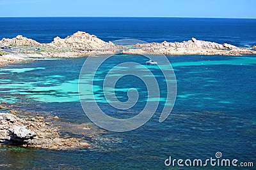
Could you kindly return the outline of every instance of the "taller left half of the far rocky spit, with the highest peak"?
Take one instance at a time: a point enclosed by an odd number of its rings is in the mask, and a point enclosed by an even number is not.
[[[13,51],[12,54],[17,53],[17,55],[26,55],[30,58],[80,57],[91,54],[113,54],[120,48],[120,46],[115,46],[111,41],[102,41],[97,38],[97,36],[82,31],[77,31],[64,39],[57,36],[51,43],[38,43],[33,39],[19,35],[12,39],[3,38],[0,44],[3,46],[22,48],[23,50]],[[40,51],[35,50],[36,47],[39,47]]]

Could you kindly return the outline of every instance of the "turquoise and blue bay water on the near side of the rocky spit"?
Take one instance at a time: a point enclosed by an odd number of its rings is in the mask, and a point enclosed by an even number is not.
[[[98,134],[95,130],[95,139],[86,134],[72,134],[88,138],[93,145],[90,150],[1,146],[0,155],[4,159],[0,164],[9,165],[8,169],[168,169],[164,160],[170,155],[176,159],[206,159],[214,157],[216,152],[223,153],[225,159],[256,162],[255,56],[188,55],[168,56],[168,59],[177,78],[177,99],[171,115],[163,123],[159,123],[159,116],[166,97],[165,82],[159,68],[149,66],[159,82],[161,98],[156,114],[147,124],[123,133]],[[35,60],[1,67],[1,100],[15,103],[22,110],[58,115],[72,125],[88,123],[77,87],[85,60]],[[116,55],[100,67],[93,87],[99,106],[116,118],[134,117],[147,101],[145,84],[132,76],[118,81],[115,93],[120,101],[126,101],[127,90],[137,89],[140,97],[134,107],[116,110],[104,99],[102,80],[106,69],[127,61],[145,65],[147,58]],[[90,97],[87,99],[89,102]]]

